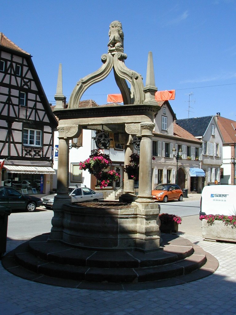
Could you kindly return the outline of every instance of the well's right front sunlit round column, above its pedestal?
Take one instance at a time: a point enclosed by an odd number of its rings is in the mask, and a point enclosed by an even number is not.
[[[137,202],[154,202],[152,199],[152,122],[141,123],[139,186]]]

